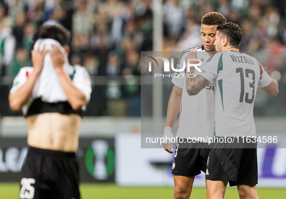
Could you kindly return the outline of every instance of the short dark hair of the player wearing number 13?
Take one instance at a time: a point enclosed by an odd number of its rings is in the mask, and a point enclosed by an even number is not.
[[[216,30],[227,38],[230,46],[239,48],[242,38],[241,28],[239,25],[228,22],[226,24],[217,26]]]

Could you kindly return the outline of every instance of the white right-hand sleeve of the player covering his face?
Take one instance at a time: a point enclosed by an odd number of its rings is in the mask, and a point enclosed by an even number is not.
[[[83,92],[86,96],[87,102],[90,101],[91,94],[91,81],[90,75],[86,68],[75,65],[75,75],[73,78],[73,84],[76,88],[78,88],[81,92]]]

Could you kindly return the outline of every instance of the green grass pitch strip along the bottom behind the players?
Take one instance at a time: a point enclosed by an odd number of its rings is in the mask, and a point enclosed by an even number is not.
[[[115,184],[81,184],[82,199],[172,199],[173,187],[120,187]],[[259,199],[285,199],[286,189],[257,188]],[[0,199],[18,199],[17,183],[0,183]],[[206,188],[194,187],[191,199],[206,199]],[[225,199],[239,199],[236,188],[226,188]]]

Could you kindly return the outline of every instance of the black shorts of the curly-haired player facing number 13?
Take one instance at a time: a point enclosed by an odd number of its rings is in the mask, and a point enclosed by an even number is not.
[[[208,143],[187,143],[187,139],[176,144],[172,174],[196,176],[206,172],[207,159],[210,151]],[[186,143],[185,143],[186,142]]]

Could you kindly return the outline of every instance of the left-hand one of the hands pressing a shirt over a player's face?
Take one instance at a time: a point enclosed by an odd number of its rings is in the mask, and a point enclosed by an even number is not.
[[[41,46],[41,44],[39,46]],[[31,51],[31,60],[34,67],[34,71],[40,73],[43,70],[46,53],[47,50],[45,49],[45,45],[42,49],[38,47],[37,49]]]

